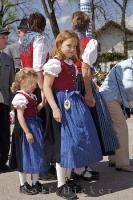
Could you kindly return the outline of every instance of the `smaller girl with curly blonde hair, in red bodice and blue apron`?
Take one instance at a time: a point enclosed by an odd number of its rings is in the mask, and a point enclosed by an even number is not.
[[[39,182],[39,173],[46,171],[44,159],[44,137],[41,121],[37,116],[37,99],[33,94],[37,86],[37,74],[33,69],[22,69],[16,73],[12,91],[16,92],[12,105],[16,110],[13,131],[10,167],[19,171],[19,192],[33,195],[47,194],[48,189]],[[42,103],[38,105],[40,110]],[[27,182],[27,174],[32,175],[32,186]]]

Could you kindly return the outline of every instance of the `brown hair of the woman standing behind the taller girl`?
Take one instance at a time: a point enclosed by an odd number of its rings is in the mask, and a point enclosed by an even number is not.
[[[89,15],[83,11],[76,11],[72,14],[72,28],[75,31],[87,31],[89,27],[89,22]]]

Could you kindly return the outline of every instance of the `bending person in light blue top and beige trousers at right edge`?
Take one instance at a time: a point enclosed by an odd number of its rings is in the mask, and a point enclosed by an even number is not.
[[[121,105],[133,107],[133,57],[121,61],[113,67],[100,87],[100,92],[107,102],[113,127],[116,131],[120,148],[109,157],[110,166],[116,170],[133,172],[129,160],[128,127]]]

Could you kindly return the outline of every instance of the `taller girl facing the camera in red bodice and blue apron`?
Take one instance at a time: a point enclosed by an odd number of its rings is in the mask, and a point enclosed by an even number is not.
[[[71,170],[102,159],[89,108],[76,90],[74,61],[78,56],[77,35],[64,31],[56,38],[53,58],[44,65],[44,94],[48,102],[46,158],[56,163],[56,194],[66,199],[77,198],[69,180]],[[68,186],[69,192],[66,192]]]

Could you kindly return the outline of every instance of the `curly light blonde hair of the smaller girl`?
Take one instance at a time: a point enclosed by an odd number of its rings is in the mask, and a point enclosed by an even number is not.
[[[37,74],[31,68],[24,68],[16,73],[15,81],[12,83],[11,91],[15,93],[17,90],[21,89],[21,85],[25,80],[33,78],[37,82]]]

